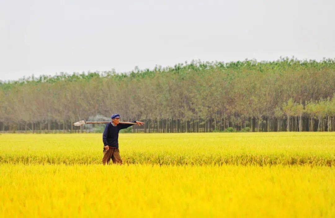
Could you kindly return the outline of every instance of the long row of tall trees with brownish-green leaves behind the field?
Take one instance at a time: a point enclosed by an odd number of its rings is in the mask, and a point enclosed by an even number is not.
[[[144,132],[332,131],[334,93],[333,59],[31,76],[0,83],[0,130],[85,131],[72,124],[120,113]]]

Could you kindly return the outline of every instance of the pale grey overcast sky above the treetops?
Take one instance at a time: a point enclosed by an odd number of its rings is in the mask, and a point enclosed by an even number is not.
[[[335,58],[334,0],[0,2],[0,80],[192,59]]]

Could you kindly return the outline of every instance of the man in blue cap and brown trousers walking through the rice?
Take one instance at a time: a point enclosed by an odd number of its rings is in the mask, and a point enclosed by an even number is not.
[[[113,163],[122,164],[122,160],[119,152],[119,131],[120,129],[125,129],[133,124],[124,124],[120,122],[120,115],[113,114],[111,116],[112,122],[107,123],[104,133],[103,133],[103,142],[104,142],[104,157],[103,164],[108,164],[109,161],[113,160]],[[133,123],[137,123],[139,126],[144,124],[140,121],[133,121]]]

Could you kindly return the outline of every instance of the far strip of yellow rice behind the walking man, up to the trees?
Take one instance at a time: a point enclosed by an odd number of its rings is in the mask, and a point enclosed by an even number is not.
[[[120,134],[124,163],[335,164],[335,132]],[[0,163],[100,164],[102,134],[2,134]]]

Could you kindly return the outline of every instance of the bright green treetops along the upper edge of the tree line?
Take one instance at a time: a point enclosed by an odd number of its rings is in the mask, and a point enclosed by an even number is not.
[[[179,63],[174,67],[160,67],[156,66],[153,70],[144,69],[135,70],[128,73],[117,74],[115,71],[103,71],[103,72],[87,72],[87,73],[64,73],[56,74],[55,76],[41,75],[35,77],[34,75],[23,77],[14,81],[0,81],[0,87],[6,87],[7,85],[14,84],[27,84],[27,83],[57,83],[59,81],[91,81],[94,78],[106,77],[113,80],[123,80],[126,78],[145,78],[154,77],[160,73],[174,72],[177,74],[188,74],[190,71],[196,71],[201,74],[206,70],[233,70],[235,73],[230,74],[231,78],[235,77],[236,73],[243,72],[244,70],[259,71],[259,72],[276,72],[282,70],[303,70],[303,69],[335,69],[335,59],[324,59],[323,61],[316,60],[297,60],[294,58],[280,58],[276,61],[262,61],[257,62],[256,60],[236,61],[236,62],[202,62],[200,60],[193,60],[191,63]],[[232,72],[232,71],[230,71]]]

